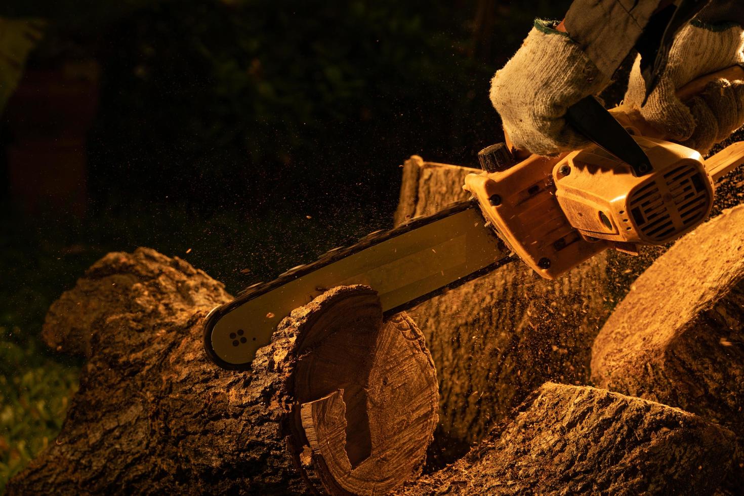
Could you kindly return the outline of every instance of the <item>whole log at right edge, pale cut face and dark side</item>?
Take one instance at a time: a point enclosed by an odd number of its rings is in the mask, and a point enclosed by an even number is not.
[[[684,236],[618,305],[592,350],[601,387],[730,428],[744,448],[744,206]],[[744,460],[736,484],[744,486]]]

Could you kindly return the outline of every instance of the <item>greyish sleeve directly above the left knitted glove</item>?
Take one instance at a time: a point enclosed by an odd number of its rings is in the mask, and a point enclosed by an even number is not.
[[[568,35],[612,77],[661,0],[574,0],[563,19]]]

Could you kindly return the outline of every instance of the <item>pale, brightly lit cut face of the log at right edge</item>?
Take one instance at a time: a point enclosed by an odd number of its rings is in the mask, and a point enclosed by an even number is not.
[[[597,384],[623,374],[629,360],[668,350],[700,315],[744,279],[744,207],[734,207],[678,242],[644,271],[597,335]]]

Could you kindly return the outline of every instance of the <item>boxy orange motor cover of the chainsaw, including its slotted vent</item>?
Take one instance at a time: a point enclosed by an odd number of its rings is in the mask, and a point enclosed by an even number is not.
[[[698,152],[651,138],[635,141],[652,173],[635,177],[598,147],[572,152],[554,167],[558,203],[584,239],[664,244],[711,212],[713,181]]]

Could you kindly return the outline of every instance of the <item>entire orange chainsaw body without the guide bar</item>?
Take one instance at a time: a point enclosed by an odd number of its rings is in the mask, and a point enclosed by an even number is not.
[[[527,265],[555,279],[607,248],[635,254],[638,244],[663,245],[692,230],[711,212],[714,181],[744,162],[744,142],[703,161],[687,146],[634,138],[652,165],[640,177],[591,146],[469,174],[464,189]]]

